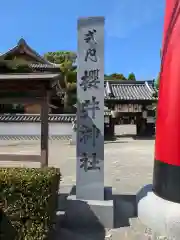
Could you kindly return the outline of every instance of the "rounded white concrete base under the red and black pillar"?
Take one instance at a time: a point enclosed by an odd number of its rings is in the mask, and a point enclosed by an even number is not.
[[[173,240],[180,239],[180,204],[156,196],[147,186],[138,197],[140,221],[157,234]]]

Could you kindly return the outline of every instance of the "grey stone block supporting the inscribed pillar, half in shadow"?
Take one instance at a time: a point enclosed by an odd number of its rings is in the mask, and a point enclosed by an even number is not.
[[[109,195],[108,192],[108,199]],[[113,200],[80,200],[71,194],[66,198],[64,212],[63,222],[70,227],[114,227]]]

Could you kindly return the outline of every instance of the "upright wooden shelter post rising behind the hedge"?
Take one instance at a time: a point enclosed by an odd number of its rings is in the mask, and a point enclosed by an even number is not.
[[[48,166],[48,113],[49,113],[49,92],[45,94],[41,103],[41,167]]]

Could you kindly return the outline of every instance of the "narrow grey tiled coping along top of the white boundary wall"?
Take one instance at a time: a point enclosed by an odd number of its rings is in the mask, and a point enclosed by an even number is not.
[[[106,116],[110,116],[110,110],[105,111]],[[76,114],[49,114],[49,122],[71,123],[76,118]],[[0,122],[40,122],[40,114],[0,114]]]

